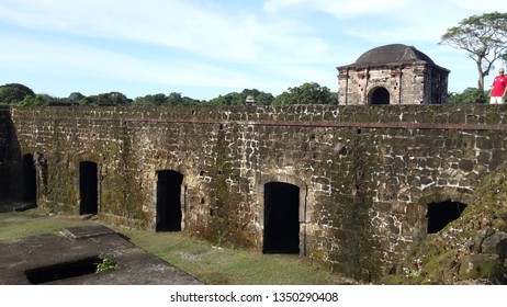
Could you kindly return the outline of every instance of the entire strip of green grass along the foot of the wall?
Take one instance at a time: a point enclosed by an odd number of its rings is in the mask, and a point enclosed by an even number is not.
[[[79,217],[48,216],[43,209],[0,213],[0,241],[58,232],[66,227],[99,224]],[[164,259],[205,284],[324,285],[351,284],[308,259],[291,254],[218,248],[187,232],[151,232],[106,225],[137,247]]]

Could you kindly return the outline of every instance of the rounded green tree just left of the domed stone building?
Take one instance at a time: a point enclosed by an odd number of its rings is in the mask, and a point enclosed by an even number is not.
[[[273,100],[273,104],[333,104],[337,102],[336,94],[317,82],[306,82],[300,87],[289,88]]]

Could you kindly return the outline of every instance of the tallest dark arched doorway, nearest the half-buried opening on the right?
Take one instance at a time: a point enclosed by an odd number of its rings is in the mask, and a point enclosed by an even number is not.
[[[300,253],[300,187],[264,184],[264,253]]]

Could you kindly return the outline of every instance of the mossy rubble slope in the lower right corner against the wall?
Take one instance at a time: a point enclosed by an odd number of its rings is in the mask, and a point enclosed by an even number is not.
[[[462,216],[428,235],[388,284],[507,283],[507,164],[487,175]]]

